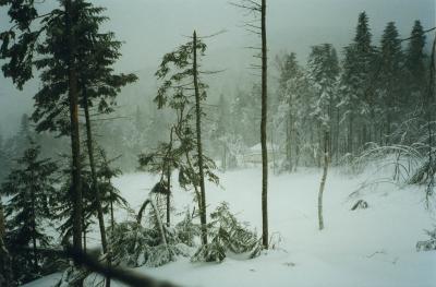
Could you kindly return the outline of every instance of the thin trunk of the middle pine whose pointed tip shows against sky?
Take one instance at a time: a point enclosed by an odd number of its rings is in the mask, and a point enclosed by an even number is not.
[[[197,133],[197,156],[198,156],[198,174],[199,174],[199,191],[202,200],[202,210],[199,211],[199,220],[202,224],[202,243],[207,244],[207,226],[206,226],[206,189],[203,170],[203,150],[202,150],[202,110],[199,108],[199,91],[198,91],[198,71],[197,71],[197,35],[194,31],[193,39],[193,73],[194,73],[194,89],[195,89],[195,117],[196,117],[196,133]]]

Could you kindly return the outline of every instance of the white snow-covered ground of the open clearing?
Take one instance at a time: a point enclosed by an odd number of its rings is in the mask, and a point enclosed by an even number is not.
[[[365,177],[349,177],[338,170],[328,175],[326,227],[319,231],[320,171],[271,172],[271,250],[253,260],[227,258],[220,264],[202,264],[181,258],[161,267],[137,271],[181,286],[436,286],[436,252],[415,251],[416,241],[427,239],[423,229],[436,223],[425,210],[424,193],[416,187],[383,183],[349,199]],[[261,180],[259,168],[220,175],[220,187],[207,184],[208,211],[226,201],[239,219],[261,230]],[[136,211],[155,182],[156,177],[146,174],[124,175],[114,181]],[[370,207],[350,211],[358,199],[364,199]],[[179,212],[192,206],[192,194],[175,188],[173,204]],[[118,214],[120,220],[125,216]],[[46,277],[27,286],[50,286],[52,279]]]

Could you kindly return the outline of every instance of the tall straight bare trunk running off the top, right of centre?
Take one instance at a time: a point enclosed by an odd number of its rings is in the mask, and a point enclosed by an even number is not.
[[[262,244],[268,249],[268,151],[266,141],[267,123],[267,46],[266,46],[266,0],[262,0]]]

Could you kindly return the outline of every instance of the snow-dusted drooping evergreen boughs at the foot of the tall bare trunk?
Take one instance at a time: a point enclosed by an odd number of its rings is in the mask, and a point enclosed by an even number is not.
[[[249,258],[261,253],[262,244],[256,234],[249,230],[246,224],[238,222],[226,202],[210,214],[210,218],[207,227],[210,242],[202,246],[191,261],[221,262],[229,252],[246,253]]]

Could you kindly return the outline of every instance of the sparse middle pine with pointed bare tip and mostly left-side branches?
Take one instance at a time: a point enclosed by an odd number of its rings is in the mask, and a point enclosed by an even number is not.
[[[155,98],[158,108],[169,106],[177,117],[174,134],[180,142],[178,148],[184,154],[184,163],[179,166],[179,182],[184,188],[193,187],[195,190],[203,244],[207,243],[205,178],[218,181],[211,171],[215,163],[203,154],[202,148],[202,101],[206,99],[207,85],[198,77],[198,68],[205,50],[206,45],[194,32],[191,41],[165,55],[156,72],[164,83]]]

